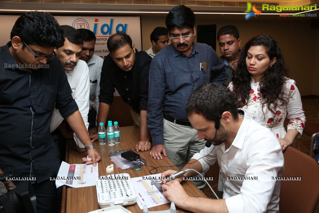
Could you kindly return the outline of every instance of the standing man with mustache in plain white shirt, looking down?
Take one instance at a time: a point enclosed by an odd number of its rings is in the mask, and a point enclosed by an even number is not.
[[[89,69],[84,61],[79,60],[82,52],[83,38],[82,35],[71,26],[62,25],[60,27],[63,29],[65,42],[62,47],[55,49],[54,51],[63,65],[72,90],[72,97],[78,104],[79,111],[87,130],[89,126],[89,123],[87,121],[90,94],[88,75]],[[62,121],[63,118],[60,115],[59,110],[55,109],[53,111],[50,132],[52,133],[61,124]],[[77,144],[77,150],[79,152],[84,152],[84,145],[81,143],[75,133],[73,133],[73,136]]]

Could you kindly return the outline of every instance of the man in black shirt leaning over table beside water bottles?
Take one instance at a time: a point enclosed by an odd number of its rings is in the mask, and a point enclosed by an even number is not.
[[[147,151],[151,148],[146,114],[152,57],[144,51],[136,52],[130,36],[122,32],[110,36],[108,50],[109,55],[104,59],[101,72],[98,124],[106,122],[115,87],[123,101],[130,105],[133,120],[140,120],[135,121],[140,126],[140,141],[135,150]]]

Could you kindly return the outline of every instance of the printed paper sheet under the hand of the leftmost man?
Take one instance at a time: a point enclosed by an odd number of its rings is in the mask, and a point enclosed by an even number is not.
[[[93,164],[68,164],[62,161],[58,175],[56,177],[56,188],[62,185],[74,188],[95,186],[99,176],[98,163]]]

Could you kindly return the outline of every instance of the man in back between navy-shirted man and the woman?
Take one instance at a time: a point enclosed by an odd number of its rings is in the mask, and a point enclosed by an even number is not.
[[[226,65],[225,80],[223,85],[228,86],[232,81],[233,72],[236,69],[237,61],[241,50],[239,49],[241,39],[237,27],[234,25],[226,25],[218,30],[217,41],[221,57],[219,57]]]

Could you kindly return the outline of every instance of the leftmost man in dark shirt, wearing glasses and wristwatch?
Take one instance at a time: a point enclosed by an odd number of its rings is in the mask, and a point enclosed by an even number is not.
[[[56,149],[50,135],[54,107],[85,145],[96,166],[101,157],[86,131],[55,48],[63,45],[63,31],[52,15],[22,14],[11,41],[0,47],[0,173],[33,179],[36,212],[53,212],[56,203]],[[19,183],[15,181],[14,184]]]

